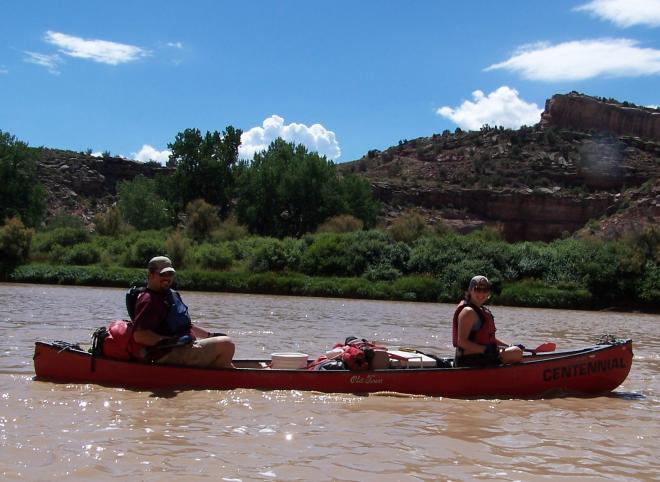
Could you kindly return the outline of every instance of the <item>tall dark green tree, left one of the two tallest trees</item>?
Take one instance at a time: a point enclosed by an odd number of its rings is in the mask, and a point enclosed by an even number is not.
[[[229,212],[241,134],[240,129],[232,126],[222,133],[207,132],[204,136],[199,129],[186,129],[168,144],[172,154],[167,166],[175,168],[170,186],[178,210],[202,198],[218,206],[223,216]]]

